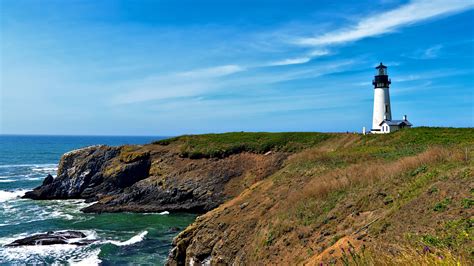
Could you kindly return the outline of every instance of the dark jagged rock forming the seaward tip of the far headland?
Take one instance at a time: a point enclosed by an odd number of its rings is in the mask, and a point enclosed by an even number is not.
[[[113,169],[114,158],[120,148],[105,145],[91,146],[63,155],[58,177],[48,176],[43,184],[25,194],[31,199],[72,199],[89,201],[107,194],[119,193],[123,188],[148,176],[148,158],[122,163]],[[110,169],[112,168],[112,169]]]

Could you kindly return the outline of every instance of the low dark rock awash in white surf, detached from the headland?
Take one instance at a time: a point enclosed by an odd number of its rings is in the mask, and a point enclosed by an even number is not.
[[[58,231],[36,234],[25,238],[17,239],[6,247],[19,246],[37,246],[37,245],[56,245],[56,244],[71,244],[71,245],[88,245],[95,240],[83,239],[86,235],[79,231]]]

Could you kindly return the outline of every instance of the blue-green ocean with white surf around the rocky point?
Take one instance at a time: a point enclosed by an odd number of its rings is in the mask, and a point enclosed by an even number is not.
[[[162,137],[161,137],[162,138]],[[164,264],[171,241],[195,219],[194,214],[85,214],[83,200],[21,199],[56,176],[61,155],[96,145],[145,144],[160,137],[0,135],[0,264]],[[34,233],[78,230],[91,245],[5,247]]]

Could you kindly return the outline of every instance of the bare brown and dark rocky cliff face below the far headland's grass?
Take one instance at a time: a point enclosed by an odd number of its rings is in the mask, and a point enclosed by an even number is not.
[[[175,145],[92,146],[64,154],[57,178],[25,198],[97,201],[85,212],[203,213],[275,172],[287,156],[243,152],[190,159]]]

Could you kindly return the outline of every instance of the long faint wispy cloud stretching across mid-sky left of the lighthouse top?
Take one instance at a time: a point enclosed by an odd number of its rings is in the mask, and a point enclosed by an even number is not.
[[[196,69],[189,72],[152,76],[120,84],[117,86],[117,89],[121,92],[113,96],[109,102],[112,105],[123,105],[182,99],[186,97],[200,97],[201,95],[215,93],[223,89],[226,91],[231,91],[231,88],[241,90],[242,87],[319,77],[344,71],[352,64],[354,64],[353,60],[334,61],[318,66],[285,71],[279,74],[262,73],[260,75],[254,75],[251,71],[247,71],[247,73],[245,73],[246,75],[238,78],[233,78],[232,76],[227,77],[227,75],[244,71],[247,68],[239,67],[227,69],[212,67]]]

